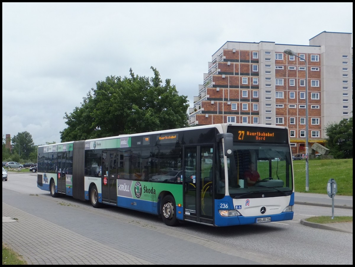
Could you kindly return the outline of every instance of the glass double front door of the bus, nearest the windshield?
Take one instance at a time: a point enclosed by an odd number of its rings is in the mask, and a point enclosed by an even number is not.
[[[184,218],[213,224],[213,145],[184,148]]]

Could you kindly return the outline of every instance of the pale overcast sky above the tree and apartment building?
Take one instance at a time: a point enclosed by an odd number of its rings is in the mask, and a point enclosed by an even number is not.
[[[2,137],[60,140],[107,76],[170,78],[190,107],[226,41],[309,45],[353,32],[353,3],[2,3]]]

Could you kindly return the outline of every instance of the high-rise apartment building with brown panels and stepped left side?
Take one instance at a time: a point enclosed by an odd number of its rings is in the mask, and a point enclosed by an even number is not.
[[[307,97],[309,147],[324,145],[324,128],[352,116],[351,33],[324,31],[309,44],[226,42],[208,62],[189,108],[189,124],[287,126],[292,151],[300,153],[305,151]],[[307,70],[305,60],[285,49],[307,60]]]

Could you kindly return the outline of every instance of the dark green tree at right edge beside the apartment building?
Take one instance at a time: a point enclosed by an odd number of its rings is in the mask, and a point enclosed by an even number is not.
[[[353,117],[325,128],[329,154],[336,159],[353,158]]]

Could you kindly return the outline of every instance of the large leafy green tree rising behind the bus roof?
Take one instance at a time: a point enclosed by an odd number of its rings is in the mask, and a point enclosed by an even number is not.
[[[179,96],[170,79],[162,85],[159,72],[154,77],[106,77],[83,98],[81,107],[65,113],[68,125],[61,141],[117,136],[188,127],[187,96]]]

